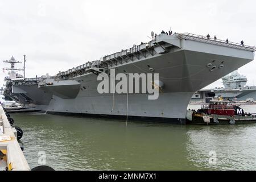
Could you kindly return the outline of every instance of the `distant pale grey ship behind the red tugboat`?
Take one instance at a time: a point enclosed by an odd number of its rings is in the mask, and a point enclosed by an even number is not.
[[[241,103],[256,101],[256,86],[247,86],[246,76],[240,75],[237,70],[221,79],[224,87],[201,89],[193,94],[191,102],[208,102],[214,96]]]

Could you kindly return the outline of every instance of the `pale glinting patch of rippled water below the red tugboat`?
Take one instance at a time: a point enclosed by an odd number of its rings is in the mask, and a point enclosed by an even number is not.
[[[220,170],[254,170],[256,168],[256,125],[190,127],[188,160],[197,167]],[[209,151],[216,152],[217,164],[209,164]]]

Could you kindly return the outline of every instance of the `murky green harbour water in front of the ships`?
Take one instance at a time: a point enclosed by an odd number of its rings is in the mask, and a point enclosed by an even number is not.
[[[52,114],[11,114],[23,129],[24,155],[39,151],[56,170],[256,169],[256,125],[181,126]],[[209,163],[209,152],[216,163]],[[211,160],[212,161],[212,160]]]

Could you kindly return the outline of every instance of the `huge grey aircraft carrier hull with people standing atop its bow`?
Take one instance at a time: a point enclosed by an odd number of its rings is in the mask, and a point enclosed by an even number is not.
[[[97,51],[97,50],[96,50]],[[152,36],[147,43],[102,57],[55,76],[7,79],[5,97],[49,113],[93,114],[185,123],[193,94],[254,60],[255,47],[195,34]],[[159,98],[100,94],[100,73],[159,73]],[[128,103],[129,104],[128,104]]]

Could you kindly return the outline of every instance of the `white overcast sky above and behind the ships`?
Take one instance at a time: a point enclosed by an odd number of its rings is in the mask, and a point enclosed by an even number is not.
[[[151,31],[216,35],[256,46],[256,1],[0,1],[2,60],[27,55],[27,77],[98,60],[104,55],[146,42]],[[18,65],[22,68],[22,65]],[[256,84],[256,62],[238,71]],[[20,72],[22,73],[22,72]],[[0,87],[6,72],[0,73]],[[255,83],[254,83],[255,82]],[[214,82],[208,88],[221,86]]]

